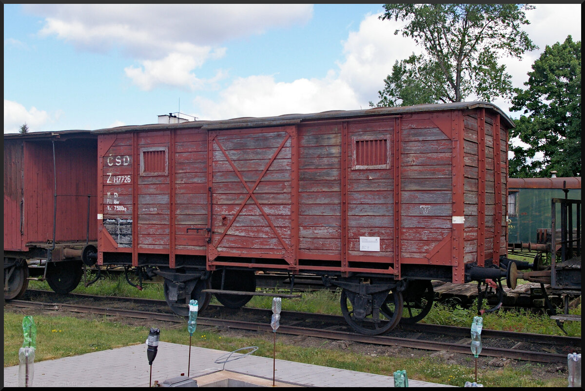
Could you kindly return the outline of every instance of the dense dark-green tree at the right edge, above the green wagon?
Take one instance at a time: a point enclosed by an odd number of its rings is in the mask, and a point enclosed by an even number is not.
[[[527,89],[517,89],[512,112],[524,110],[510,138],[528,144],[510,146],[510,177],[581,175],[581,41],[571,36],[546,46],[528,72]],[[542,160],[536,159],[542,153]]]

